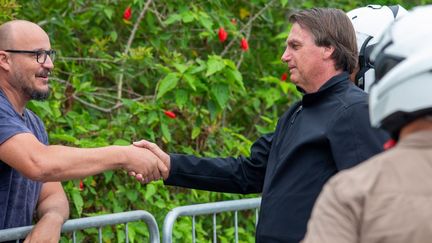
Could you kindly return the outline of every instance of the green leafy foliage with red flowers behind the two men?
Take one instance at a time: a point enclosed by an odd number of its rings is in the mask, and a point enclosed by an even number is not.
[[[380,2],[408,8],[426,3]],[[287,72],[279,58],[289,11],[316,6],[350,10],[366,3],[0,0],[0,22],[18,18],[40,24],[58,51],[51,98],[29,104],[45,122],[52,144],[97,147],[147,139],[171,152],[247,156],[252,142],[273,131],[278,117],[300,97],[294,85],[280,80]],[[132,16],[125,20],[128,6]],[[218,40],[219,27],[228,32],[224,43]],[[245,52],[242,37],[249,42]],[[166,187],[160,181],[141,185],[123,171],[91,176],[83,184],[82,190],[78,180],[63,184],[71,218],[142,209],[162,225],[176,206],[244,197]],[[218,218],[220,242],[233,242],[231,216]],[[240,241],[253,242],[254,213],[239,216]],[[180,219],[174,240],[190,242],[190,225],[190,219]],[[104,228],[103,241],[123,241],[119,227]],[[198,219],[196,227],[199,242],[210,241],[211,223]],[[93,242],[95,231],[77,238]],[[129,236],[131,242],[142,242],[148,232],[131,224]]]

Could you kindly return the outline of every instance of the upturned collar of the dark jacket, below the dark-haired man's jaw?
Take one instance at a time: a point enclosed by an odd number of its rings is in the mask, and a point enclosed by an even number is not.
[[[321,86],[317,92],[308,93],[303,96],[303,105],[310,105],[315,103],[317,100],[322,99],[322,97],[327,96],[328,93],[335,92],[337,87],[348,85],[349,75],[347,72],[342,72],[330,78],[327,82]]]

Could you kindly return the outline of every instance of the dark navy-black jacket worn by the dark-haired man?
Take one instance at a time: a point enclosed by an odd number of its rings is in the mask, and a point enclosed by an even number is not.
[[[370,127],[367,94],[347,73],[305,94],[259,138],[249,158],[171,154],[168,185],[262,192],[256,241],[299,242],[325,182],[382,151],[387,134]]]

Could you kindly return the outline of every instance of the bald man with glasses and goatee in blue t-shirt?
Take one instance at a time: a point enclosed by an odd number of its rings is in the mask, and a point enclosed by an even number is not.
[[[49,96],[55,51],[38,25],[14,20],[0,26],[0,229],[38,222],[25,242],[58,242],[69,204],[59,181],[112,169],[168,176],[167,166],[136,146],[73,148],[48,145],[43,122],[26,109]]]

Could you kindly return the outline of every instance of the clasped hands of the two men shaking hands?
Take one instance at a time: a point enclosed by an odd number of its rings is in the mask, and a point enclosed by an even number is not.
[[[170,156],[155,143],[141,140],[134,142],[128,148],[131,150],[127,154],[130,163],[125,166],[125,169],[130,176],[143,184],[168,178]]]

